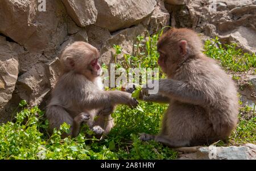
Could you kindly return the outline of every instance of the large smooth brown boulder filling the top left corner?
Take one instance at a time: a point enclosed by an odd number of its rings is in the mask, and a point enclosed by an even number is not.
[[[34,52],[56,48],[67,34],[59,1],[46,1],[46,12],[38,11],[38,1],[0,1],[0,32]]]

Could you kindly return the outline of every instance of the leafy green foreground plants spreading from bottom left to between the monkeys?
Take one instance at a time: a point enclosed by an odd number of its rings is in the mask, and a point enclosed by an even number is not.
[[[0,159],[175,159],[177,153],[153,141],[142,143],[138,132],[158,132],[166,105],[140,104],[140,110],[119,106],[114,113],[116,126],[103,141],[85,139],[84,131],[74,139],[61,139],[68,131],[63,124],[51,136],[47,134],[38,107],[26,107],[20,102],[21,112],[15,122],[0,126]],[[91,142],[90,142],[91,141]]]

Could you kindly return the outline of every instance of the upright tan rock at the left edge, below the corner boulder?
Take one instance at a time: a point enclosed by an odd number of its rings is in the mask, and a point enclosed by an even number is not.
[[[0,36],[0,110],[11,99],[18,78],[18,55],[22,46]]]

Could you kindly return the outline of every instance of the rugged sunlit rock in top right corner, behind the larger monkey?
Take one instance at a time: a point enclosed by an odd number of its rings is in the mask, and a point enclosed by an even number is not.
[[[166,1],[167,2],[167,1]],[[236,42],[243,52],[255,53],[256,6],[251,0],[217,1],[216,11],[207,1],[190,1],[186,7],[168,5],[172,27],[188,27],[224,44]]]

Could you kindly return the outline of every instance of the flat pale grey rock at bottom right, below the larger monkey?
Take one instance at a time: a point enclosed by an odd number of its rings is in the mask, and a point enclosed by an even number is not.
[[[201,147],[196,149],[196,152],[180,155],[178,159],[199,159],[199,160],[255,160],[256,145],[245,144],[244,146],[236,147]]]

